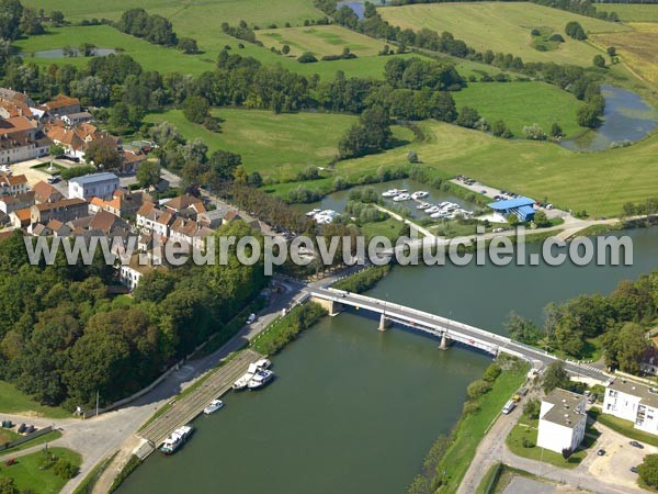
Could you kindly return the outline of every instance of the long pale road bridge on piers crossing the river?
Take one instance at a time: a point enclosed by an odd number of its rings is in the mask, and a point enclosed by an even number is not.
[[[554,355],[544,350],[514,341],[506,336],[497,335],[486,329],[469,326],[457,321],[441,317],[417,308],[386,302],[372,296],[359,295],[356,293],[309,285],[306,289],[311,300],[325,306],[330,315],[337,315],[343,306],[352,306],[358,310],[366,310],[379,314],[379,330],[385,330],[390,323],[401,324],[421,333],[430,334],[441,339],[441,348],[447,348],[451,341],[485,351],[492,356],[507,353],[513,357],[529,360],[535,367],[543,368],[559,360]],[[567,372],[589,378],[601,383],[610,379],[610,375],[590,364],[565,360]]]

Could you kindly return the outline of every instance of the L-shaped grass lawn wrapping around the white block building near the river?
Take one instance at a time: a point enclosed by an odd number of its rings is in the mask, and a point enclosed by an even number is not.
[[[512,453],[518,457],[551,463],[563,469],[574,469],[580,464],[585,457],[587,457],[587,450],[585,449],[577,450],[565,460],[560,453],[544,448],[537,448],[537,424],[538,419],[533,420],[525,415],[522,415],[521,418],[519,418],[519,423],[506,439],[506,444]],[[588,439],[587,436],[586,439]],[[523,446],[524,442],[532,446],[525,447]],[[588,446],[591,446],[591,444],[588,442]]]

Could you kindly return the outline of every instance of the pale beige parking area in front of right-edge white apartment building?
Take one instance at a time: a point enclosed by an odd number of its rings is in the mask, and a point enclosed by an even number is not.
[[[643,462],[647,454],[658,452],[658,448],[643,444],[644,449],[631,446],[631,439],[609,429],[601,424],[595,427],[601,431],[595,449],[588,454],[586,460],[589,473],[594,479],[601,479],[616,485],[623,485],[632,492],[644,492],[637,486],[637,473],[631,468]],[[605,454],[599,456],[595,451],[605,450]]]

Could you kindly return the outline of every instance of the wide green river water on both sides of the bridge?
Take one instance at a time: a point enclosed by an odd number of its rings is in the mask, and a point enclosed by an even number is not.
[[[395,268],[370,294],[502,333],[511,310],[541,322],[551,301],[608,293],[658,268],[658,228],[628,234],[633,267]],[[273,359],[274,383],[228,394],[180,452],[152,454],[117,492],[405,492],[490,360],[376,325],[359,313],[324,318]]]

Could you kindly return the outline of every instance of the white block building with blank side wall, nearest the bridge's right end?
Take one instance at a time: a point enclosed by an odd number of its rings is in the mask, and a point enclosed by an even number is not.
[[[585,438],[587,397],[555,389],[542,398],[537,446],[561,453],[575,451]]]

